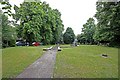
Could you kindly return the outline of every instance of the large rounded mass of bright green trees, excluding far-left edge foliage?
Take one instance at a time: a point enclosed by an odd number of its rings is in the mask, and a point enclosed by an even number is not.
[[[46,2],[24,2],[14,6],[13,18],[20,21],[18,37],[29,43],[40,41],[43,44],[59,42],[63,31],[61,13],[52,9]]]

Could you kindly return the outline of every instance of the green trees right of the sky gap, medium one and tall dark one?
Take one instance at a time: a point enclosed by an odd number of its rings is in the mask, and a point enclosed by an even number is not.
[[[83,25],[82,33],[77,35],[80,43],[105,44],[115,46],[120,41],[120,2],[97,2],[97,24],[89,18]]]

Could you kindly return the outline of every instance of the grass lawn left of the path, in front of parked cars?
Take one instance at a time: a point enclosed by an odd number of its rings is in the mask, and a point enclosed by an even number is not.
[[[2,50],[2,77],[14,78],[43,54],[40,47],[12,47]]]

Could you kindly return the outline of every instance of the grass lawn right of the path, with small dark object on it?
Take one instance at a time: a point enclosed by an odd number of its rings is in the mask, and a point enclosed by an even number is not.
[[[54,77],[118,78],[118,49],[96,45],[63,48],[56,57]]]

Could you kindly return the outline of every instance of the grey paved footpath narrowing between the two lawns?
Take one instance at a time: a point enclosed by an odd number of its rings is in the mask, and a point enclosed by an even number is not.
[[[17,78],[51,78],[56,60],[57,47],[45,52],[41,58],[26,68]]]

